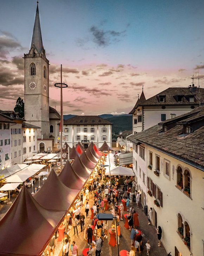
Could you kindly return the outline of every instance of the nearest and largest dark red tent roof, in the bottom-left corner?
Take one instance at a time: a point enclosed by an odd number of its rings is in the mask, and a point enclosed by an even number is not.
[[[0,220],[0,255],[42,255],[64,214],[44,209],[24,186]]]

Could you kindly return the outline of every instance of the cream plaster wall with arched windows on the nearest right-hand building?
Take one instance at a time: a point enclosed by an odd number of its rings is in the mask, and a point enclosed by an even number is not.
[[[191,256],[191,252],[184,244],[183,240],[177,233],[178,222],[177,214],[183,216],[183,222],[186,220],[189,223],[192,232],[192,255],[203,255],[203,223],[204,223],[204,173],[199,169],[192,167],[180,160],[168,156],[153,148],[147,147],[153,152],[153,168],[147,168],[148,176],[155,184],[159,186],[163,197],[163,207],[154,205],[154,197],[147,195],[148,209],[154,208],[157,212],[157,223],[162,228],[162,243],[167,251],[174,252],[176,246],[183,256]],[[161,168],[160,175],[157,177],[154,174],[155,169],[155,154],[160,156],[160,162],[164,159],[170,161],[170,179],[164,175],[164,170]],[[181,190],[176,187],[177,184],[177,166],[182,166],[182,169],[188,168],[192,175],[191,197],[189,198]],[[174,174],[173,174],[174,170]],[[156,231],[155,231],[156,232]],[[172,253],[174,255],[174,253]]]

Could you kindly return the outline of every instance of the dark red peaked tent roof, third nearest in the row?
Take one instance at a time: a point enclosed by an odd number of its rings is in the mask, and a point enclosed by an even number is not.
[[[71,167],[69,161],[66,162],[64,168],[59,173],[58,178],[62,183],[70,187],[70,189],[82,189],[86,178],[79,177]]]

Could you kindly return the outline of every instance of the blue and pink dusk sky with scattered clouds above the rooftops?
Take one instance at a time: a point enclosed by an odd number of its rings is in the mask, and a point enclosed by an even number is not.
[[[60,110],[54,84],[62,64],[64,114],[129,113],[142,85],[148,99],[187,87],[198,71],[204,87],[203,0],[39,0],[38,6],[50,106]],[[31,46],[36,7],[34,0],[1,1],[1,110],[24,99],[22,57]]]

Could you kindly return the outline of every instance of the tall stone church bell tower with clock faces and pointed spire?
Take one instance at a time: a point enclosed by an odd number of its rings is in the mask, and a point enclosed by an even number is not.
[[[24,102],[26,123],[41,128],[38,138],[49,138],[49,60],[43,47],[38,5],[31,48],[24,54]]]

